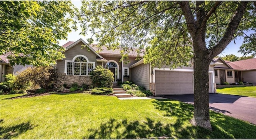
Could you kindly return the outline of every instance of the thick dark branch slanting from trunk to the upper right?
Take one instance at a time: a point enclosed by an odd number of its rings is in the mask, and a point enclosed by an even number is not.
[[[228,28],[226,29],[226,32],[220,42],[216,44],[212,49],[212,57],[217,56],[220,54],[226,46],[232,41],[232,38],[234,36],[234,33],[236,29],[238,28],[238,25],[245,13],[246,6],[249,2],[248,1],[241,1],[236,8],[236,11],[234,12],[232,19],[230,21],[230,24],[228,25]]]

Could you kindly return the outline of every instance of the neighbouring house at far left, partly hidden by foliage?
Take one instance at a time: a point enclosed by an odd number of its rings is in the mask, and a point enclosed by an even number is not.
[[[29,67],[32,67],[32,65],[15,65],[15,66],[11,66],[10,62],[7,58],[7,56],[10,54],[4,54],[4,55],[0,55],[0,82],[5,82],[5,78],[4,75],[7,74],[14,74],[14,75],[18,75],[18,73],[26,70]]]

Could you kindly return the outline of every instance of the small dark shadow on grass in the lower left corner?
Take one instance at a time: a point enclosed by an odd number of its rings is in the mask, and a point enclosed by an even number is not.
[[[0,123],[2,124],[3,122],[4,120],[1,119]],[[1,126],[0,139],[11,139],[33,128],[34,126],[30,122],[23,122],[15,126]]]

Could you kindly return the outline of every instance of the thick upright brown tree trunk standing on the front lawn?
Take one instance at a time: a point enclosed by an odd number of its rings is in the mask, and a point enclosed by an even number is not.
[[[196,45],[196,44],[195,44]],[[204,44],[200,44],[201,46]],[[209,114],[209,65],[207,49],[194,47],[194,117],[191,123],[212,130]]]

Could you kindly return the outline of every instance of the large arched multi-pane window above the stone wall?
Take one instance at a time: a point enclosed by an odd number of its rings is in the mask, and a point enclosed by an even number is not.
[[[88,62],[86,56],[77,55],[72,61],[65,61],[66,75],[90,75],[95,68],[95,62]]]

